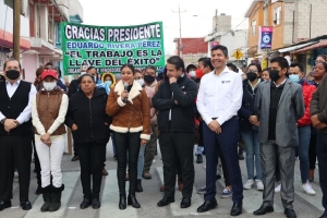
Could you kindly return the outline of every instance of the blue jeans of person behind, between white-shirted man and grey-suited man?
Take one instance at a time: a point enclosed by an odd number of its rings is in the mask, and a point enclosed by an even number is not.
[[[245,145],[246,152],[246,169],[247,169],[247,178],[254,179],[254,165],[256,170],[256,179],[263,179],[263,168],[262,168],[262,158],[259,144],[257,140],[257,131],[252,129],[242,130],[241,135]],[[255,161],[254,161],[255,159]]]

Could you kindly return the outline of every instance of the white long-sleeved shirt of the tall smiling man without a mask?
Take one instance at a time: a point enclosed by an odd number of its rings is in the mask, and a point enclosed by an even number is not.
[[[218,123],[222,125],[238,114],[242,97],[241,76],[226,66],[219,75],[213,71],[202,77],[196,106],[207,124],[213,121],[213,118],[217,118]]]

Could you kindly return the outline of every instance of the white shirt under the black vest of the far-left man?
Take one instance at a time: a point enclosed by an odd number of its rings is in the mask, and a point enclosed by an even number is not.
[[[8,81],[5,81],[7,93],[10,98],[16,92],[20,83],[21,83],[21,80],[15,82],[14,84],[11,84]],[[36,93],[37,93],[37,90],[36,90],[35,86],[33,84],[31,84],[31,90],[29,90],[29,95],[28,95],[28,105],[24,108],[24,110],[21,112],[21,114],[15,119],[16,121],[19,121],[19,123],[22,124],[24,122],[27,122],[31,119],[32,99]],[[2,120],[4,118],[5,118],[5,116],[3,116],[3,113],[0,111],[0,120]]]

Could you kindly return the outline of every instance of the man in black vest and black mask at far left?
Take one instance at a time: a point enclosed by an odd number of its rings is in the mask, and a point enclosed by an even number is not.
[[[0,210],[11,207],[13,170],[20,173],[20,202],[24,210],[28,201],[31,180],[33,125],[33,84],[21,80],[21,63],[10,59],[4,63],[5,82],[0,83]]]

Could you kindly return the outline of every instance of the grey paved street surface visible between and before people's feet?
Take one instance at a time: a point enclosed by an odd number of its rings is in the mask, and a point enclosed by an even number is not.
[[[63,171],[63,183],[65,190],[62,196],[62,206],[60,210],[56,213],[40,213],[40,206],[43,204],[41,196],[35,195],[36,190],[36,178],[35,173],[32,175],[31,181],[31,193],[29,199],[33,204],[33,209],[24,211],[19,207],[19,185],[17,179],[14,181],[14,197],[13,207],[0,211],[0,218],[128,218],[128,217],[144,217],[144,218],[160,218],[160,217],[230,217],[230,208],[232,206],[231,198],[220,198],[220,193],[223,189],[223,179],[217,181],[218,186],[218,208],[210,210],[205,214],[197,214],[196,208],[203,203],[203,196],[196,193],[196,190],[205,184],[205,164],[195,166],[195,183],[194,183],[194,195],[192,198],[192,206],[187,209],[180,208],[181,193],[177,190],[175,203],[158,208],[157,202],[162,197],[162,193],[159,192],[159,186],[162,184],[162,162],[160,160],[160,154],[156,156],[156,161],[153,165],[150,173],[153,174],[152,180],[143,180],[144,192],[138,193],[137,199],[142,206],[141,209],[134,209],[131,206],[125,210],[118,208],[118,184],[116,177],[117,162],[112,158],[111,143],[108,144],[107,149],[107,169],[109,171],[108,177],[104,177],[102,191],[101,191],[101,203],[100,209],[95,210],[92,207],[87,209],[80,209],[80,204],[83,199],[82,185],[80,181],[80,162],[72,162],[71,156],[64,155],[62,161]],[[243,181],[245,181],[245,161],[240,161]],[[318,185],[317,171],[315,175],[315,182],[312,183],[313,189],[317,192],[315,196],[308,196],[301,191],[299,160],[295,165],[295,202],[294,209],[298,217],[302,218],[317,218],[322,215],[322,192]],[[32,165],[34,169],[34,164]],[[250,191],[244,190],[243,201],[243,214],[240,217],[254,217],[252,211],[257,209],[262,203],[262,192],[256,191],[254,187]],[[275,213],[266,215],[264,217],[284,217],[282,213],[282,205],[280,195],[277,194],[275,197]]]

